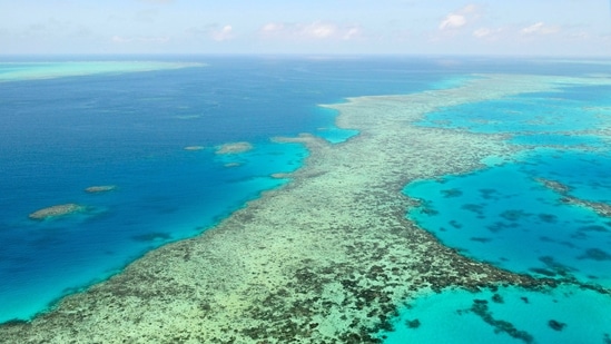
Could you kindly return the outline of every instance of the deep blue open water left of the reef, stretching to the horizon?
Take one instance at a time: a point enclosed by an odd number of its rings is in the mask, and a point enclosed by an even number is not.
[[[272,137],[313,132],[338,142],[355,134],[317,105],[438,88],[455,75],[425,59],[179,60],[208,66],[0,83],[0,322],[30,318],[286,183],[270,174],[295,170],[307,151]],[[214,154],[233,141],[254,150]],[[117,189],[83,191],[96,185]],[[28,218],[66,203],[88,208]]]

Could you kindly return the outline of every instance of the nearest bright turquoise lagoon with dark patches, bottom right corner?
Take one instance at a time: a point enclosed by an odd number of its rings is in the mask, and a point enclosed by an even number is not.
[[[384,343],[608,343],[611,297],[588,289],[501,287],[422,295]]]

